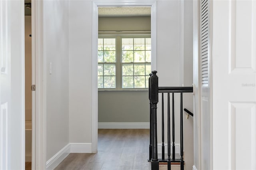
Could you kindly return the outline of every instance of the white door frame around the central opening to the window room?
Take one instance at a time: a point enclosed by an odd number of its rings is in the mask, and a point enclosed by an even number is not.
[[[156,69],[156,0],[94,0],[92,1],[92,152],[98,150],[98,7],[150,6],[151,7],[151,68]]]

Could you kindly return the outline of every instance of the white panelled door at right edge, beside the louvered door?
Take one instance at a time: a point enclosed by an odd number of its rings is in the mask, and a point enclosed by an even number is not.
[[[256,1],[213,1],[213,169],[256,169]]]

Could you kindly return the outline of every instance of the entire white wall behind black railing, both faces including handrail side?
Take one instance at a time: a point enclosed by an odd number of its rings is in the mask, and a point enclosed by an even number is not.
[[[159,86],[192,86],[193,83],[193,25],[192,1],[158,1],[157,18],[157,75]],[[171,97],[171,96],[170,96]],[[175,99],[175,142],[180,144],[180,94]],[[172,99],[170,99],[172,100]],[[161,121],[161,95],[159,95],[158,117]],[[167,97],[164,98],[167,111]],[[193,111],[192,93],[183,95],[184,108]],[[193,117],[186,119],[184,125],[184,160],[185,169],[193,166]],[[172,121],[172,118],[171,120]],[[167,130],[167,114],[165,115]],[[162,143],[161,123],[158,123],[158,144]],[[167,135],[165,135],[167,142]],[[158,150],[160,152],[160,150]]]

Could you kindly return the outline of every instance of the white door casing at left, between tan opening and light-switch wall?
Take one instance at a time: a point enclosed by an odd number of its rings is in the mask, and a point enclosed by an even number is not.
[[[46,169],[46,62],[43,51],[43,1],[31,2],[32,83],[36,85],[32,111],[32,169]],[[32,107],[33,107],[32,106]]]

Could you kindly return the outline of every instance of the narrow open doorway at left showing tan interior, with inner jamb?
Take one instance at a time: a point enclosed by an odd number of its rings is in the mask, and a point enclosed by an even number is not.
[[[25,168],[36,168],[35,1],[24,1],[25,40]],[[39,153],[38,153],[39,155]]]

